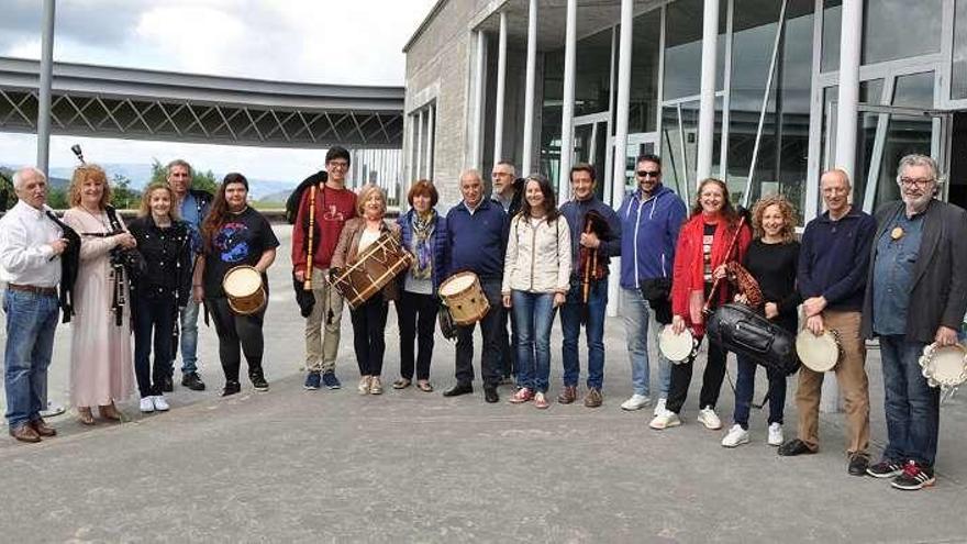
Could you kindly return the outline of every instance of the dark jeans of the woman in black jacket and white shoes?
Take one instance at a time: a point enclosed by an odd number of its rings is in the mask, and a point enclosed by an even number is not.
[[[162,395],[162,378],[171,376],[177,312],[174,296],[134,297],[134,376],[142,398]]]

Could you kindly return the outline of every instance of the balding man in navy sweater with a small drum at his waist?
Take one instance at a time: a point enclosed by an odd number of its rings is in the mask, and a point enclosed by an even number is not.
[[[480,287],[490,303],[490,311],[480,320],[484,354],[480,376],[484,379],[484,400],[497,402],[499,326],[501,314],[500,281],[503,278],[503,254],[507,249],[508,215],[497,202],[484,198],[484,181],[477,170],[460,175],[463,200],[446,214],[446,270],[451,274],[470,270],[480,279]],[[443,392],[456,397],[474,392],[474,329],[457,329],[457,384]]]

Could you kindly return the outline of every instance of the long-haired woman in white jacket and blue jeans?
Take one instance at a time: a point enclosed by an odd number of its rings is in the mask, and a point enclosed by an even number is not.
[[[503,260],[503,306],[513,308],[518,336],[518,385],[513,403],[547,408],[551,325],[564,303],[570,278],[570,230],[557,211],[554,189],[544,176],[524,182],[521,212],[510,223]]]

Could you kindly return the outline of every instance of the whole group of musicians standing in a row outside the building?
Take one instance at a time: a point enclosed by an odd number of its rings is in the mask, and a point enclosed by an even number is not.
[[[459,178],[462,199],[444,217],[436,211],[436,187],[418,180],[407,195],[409,209],[396,221],[386,218],[387,197],[380,188],[366,186],[358,195],[346,188],[349,158],[345,148],[329,149],[325,171],[307,180],[311,189],[302,191],[294,213],[293,281],[297,292],[303,284],[309,289],[299,293],[305,317],[305,389],[341,388],[335,366],[344,299],[332,280],[386,236],[412,259],[380,292],[349,310],[358,392],[384,392],[390,301],[400,331],[400,377],[392,388],[415,382],[419,390],[433,391],[430,366],[440,288],[454,274],[473,271],[490,304],[479,320],[484,399],[498,402],[498,386],[512,376],[516,390],[510,402],[538,409],[551,406],[549,337],[558,311],[564,371],[556,401],[578,399],[583,327],[582,401],[588,408],[603,402],[612,257],[622,257],[620,306],[632,396],[621,408],[627,411],[651,406],[655,397],[648,343],[654,343],[660,324],[676,333],[688,329],[701,338],[703,310],[743,301],[727,281],[713,288],[735,262],[758,282],[767,319],[794,333],[801,308],[802,326],[815,334],[837,332],[843,357],[835,374],[845,400],[848,473],[890,477],[901,489],[933,484],[938,392],[921,375],[918,357],[931,343],[951,345],[958,340],[967,311],[967,212],[935,198],[938,175],[930,157],[911,155],[900,162],[901,201],[886,206],[876,218],[852,206],[846,173],[824,173],[826,211],[809,222],[801,242],[794,235],[793,207],[781,196],[760,199],[748,224],[740,219],[726,185],[709,178],[700,182],[689,211],[662,184],[662,160],[655,155],[637,158],[637,187],[618,211],[597,197],[591,165],[571,168],[570,199],[558,208],[545,177],[520,179],[513,164],[501,162],[491,173],[492,198],[485,195],[480,174],[466,170]],[[7,417],[15,438],[36,442],[56,434],[40,410],[46,403],[46,367],[58,307],[65,320],[73,321],[71,402],[82,423],[96,422],[95,406],[101,418],[121,418],[115,402],[132,389],[132,363],[141,410],[167,410],[164,392],[173,387],[179,333],[182,385],[203,389],[194,354],[202,304],[219,336],[223,395],[241,391],[242,354],[253,387],[268,389],[262,367],[265,307],[248,314],[234,311],[222,280],[230,268],[247,265],[268,289],[266,270],[279,242],[266,219],[248,207],[248,182],[241,174],[225,176],[214,197],[190,189],[190,166],[185,162],[173,162],[167,174],[167,182],[145,190],[138,219],[126,226],[108,204],[110,187],[97,166],[75,171],[71,209],[63,221],[44,203],[42,173],[26,168],[14,177],[20,201],[0,223],[0,269],[8,284]],[[79,235],[79,244],[70,242],[71,233]],[[474,391],[476,326],[456,326],[456,384],[443,392],[445,397]],[[876,336],[883,362],[889,444],[871,464],[865,341]],[[652,429],[681,424],[693,359],[671,364],[659,355]],[[711,430],[722,428],[715,409],[725,360],[725,351],[710,343],[698,421]],[[723,446],[751,440],[755,373],[756,364],[740,355],[734,424]],[[787,378],[771,370],[767,377],[768,444],[778,446],[782,456],[816,452],[823,374],[800,369],[798,436],[789,441],[782,432]]]

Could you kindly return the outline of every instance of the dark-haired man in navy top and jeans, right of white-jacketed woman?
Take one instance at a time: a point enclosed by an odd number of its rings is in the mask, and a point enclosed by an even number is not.
[[[604,382],[604,311],[608,308],[608,265],[621,255],[621,222],[608,204],[594,196],[594,167],[578,163],[570,169],[574,199],[560,207],[567,220],[571,241],[570,290],[560,307],[560,331],[564,334],[564,390],[557,397],[562,404],[577,399],[580,363],[578,337],[581,324],[588,337],[588,392],[585,406],[598,408],[603,402]],[[590,229],[588,227],[588,218]]]

